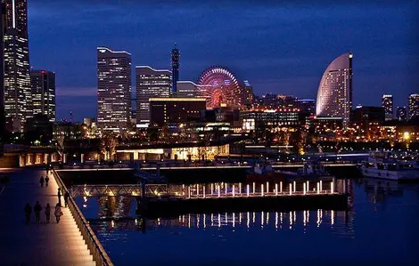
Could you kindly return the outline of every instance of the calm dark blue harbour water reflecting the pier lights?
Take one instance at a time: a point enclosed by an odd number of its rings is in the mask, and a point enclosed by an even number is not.
[[[77,198],[115,265],[417,265],[419,185],[350,181],[349,211],[136,219],[128,197]],[[111,219],[103,219],[103,218]]]

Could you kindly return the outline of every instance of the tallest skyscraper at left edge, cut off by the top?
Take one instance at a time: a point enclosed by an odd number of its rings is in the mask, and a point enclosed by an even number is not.
[[[23,129],[31,109],[27,0],[4,0],[4,109],[12,132]]]

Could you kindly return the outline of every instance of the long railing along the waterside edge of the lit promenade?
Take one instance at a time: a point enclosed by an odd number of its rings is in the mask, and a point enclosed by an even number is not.
[[[57,181],[58,186],[62,189],[62,192],[68,192],[60,175],[56,173],[55,170],[53,170],[53,177],[55,178],[55,181]],[[69,197],[69,209],[78,225],[78,229],[81,231],[81,234],[86,241],[90,254],[93,255],[96,266],[113,266],[110,257],[106,254],[101,242],[96,238],[94,231],[72,197]]]

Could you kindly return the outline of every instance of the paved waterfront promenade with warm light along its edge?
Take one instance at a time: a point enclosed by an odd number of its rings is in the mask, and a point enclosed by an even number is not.
[[[50,176],[49,186],[41,188],[39,177],[45,176],[44,170],[22,169],[8,173],[10,181],[0,194],[0,266],[94,266],[70,210],[63,207],[62,220],[59,224],[55,222],[53,206],[58,202],[58,187],[53,176]],[[46,203],[52,206],[51,223],[45,222],[43,209],[40,224],[35,222],[32,212],[31,222],[26,225],[23,208],[27,202],[33,207],[37,200],[43,208]]]

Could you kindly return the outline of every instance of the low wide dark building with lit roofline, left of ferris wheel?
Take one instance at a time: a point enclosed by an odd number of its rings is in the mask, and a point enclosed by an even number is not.
[[[150,98],[150,122],[164,125],[198,119],[205,103],[202,98]]]

